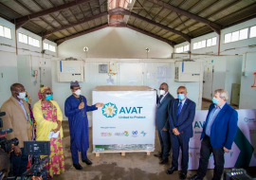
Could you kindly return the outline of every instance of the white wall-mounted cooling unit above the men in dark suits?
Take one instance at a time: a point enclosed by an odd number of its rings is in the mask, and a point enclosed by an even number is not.
[[[200,81],[200,62],[175,62],[174,81]]]

